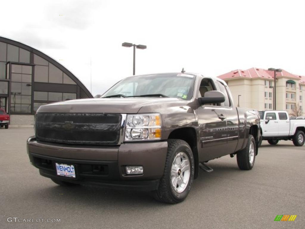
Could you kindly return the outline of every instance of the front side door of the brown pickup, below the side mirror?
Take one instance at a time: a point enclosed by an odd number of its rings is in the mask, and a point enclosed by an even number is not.
[[[216,90],[210,78],[203,78],[198,97],[207,91]],[[205,104],[196,110],[199,125],[199,160],[207,161],[225,155],[227,149],[227,114],[222,104]]]

